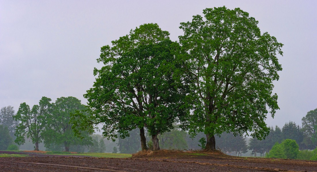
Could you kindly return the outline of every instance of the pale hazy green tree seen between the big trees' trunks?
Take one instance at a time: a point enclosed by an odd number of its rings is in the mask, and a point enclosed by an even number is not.
[[[165,132],[158,136],[162,149],[188,149],[186,143],[186,131],[181,131],[177,125],[170,132]]]

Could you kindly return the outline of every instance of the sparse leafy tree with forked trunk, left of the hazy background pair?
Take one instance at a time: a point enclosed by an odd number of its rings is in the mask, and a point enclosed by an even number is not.
[[[39,143],[42,142],[42,132],[46,125],[47,116],[49,114],[49,108],[51,104],[50,98],[42,97],[39,105],[34,105],[32,110],[25,102],[20,104],[19,110],[15,116],[15,121],[20,121],[16,126],[15,142],[18,145],[25,143],[24,135],[27,138],[32,139],[32,143],[35,144],[35,150],[39,151]]]

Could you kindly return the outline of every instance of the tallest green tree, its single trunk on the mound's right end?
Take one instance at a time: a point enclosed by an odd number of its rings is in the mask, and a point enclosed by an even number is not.
[[[273,80],[282,70],[276,52],[283,44],[261,34],[256,21],[239,8],[204,9],[204,18],[193,16],[181,23],[180,44],[188,52],[187,72],[195,76],[189,119],[191,133],[206,134],[206,149],[215,149],[215,134],[252,132],[264,138],[270,128],[264,122],[270,109],[274,117],[277,95]]]

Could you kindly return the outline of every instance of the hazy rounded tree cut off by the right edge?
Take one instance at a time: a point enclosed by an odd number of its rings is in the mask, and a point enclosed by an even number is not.
[[[310,138],[314,147],[317,146],[317,108],[307,112],[302,119],[302,131],[307,138]]]

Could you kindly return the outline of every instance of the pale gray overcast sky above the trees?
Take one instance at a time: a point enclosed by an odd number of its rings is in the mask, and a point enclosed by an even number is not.
[[[100,47],[144,23],[158,23],[173,41],[205,8],[246,11],[284,44],[274,82],[281,110],[268,125],[282,127],[317,108],[317,1],[3,1],[0,0],[0,107],[38,104],[42,96],[83,94],[94,82]]]

